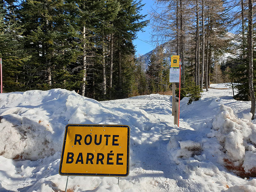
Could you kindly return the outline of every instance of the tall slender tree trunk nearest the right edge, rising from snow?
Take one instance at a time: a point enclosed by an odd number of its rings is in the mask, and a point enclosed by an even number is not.
[[[251,113],[252,113],[252,119],[254,119],[254,114],[255,114],[255,95],[253,91],[253,54],[252,54],[252,0],[248,0],[249,4],[249,14],[248,14],[248,57],[249,57],[249,70],[248,70],[248,75],[249,75],[249,92],[250,92],[250,97],[251,97]]]

